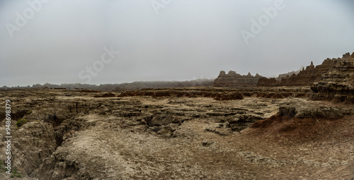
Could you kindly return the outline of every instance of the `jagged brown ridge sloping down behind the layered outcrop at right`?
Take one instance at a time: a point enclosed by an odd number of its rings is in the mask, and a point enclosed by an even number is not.
[[[349,53],[343,55],[338,59],[326,59],[321,65],[314,66],[311,62],[306,68],[302,68],[297,75],[294,73],[292,76],[286,76],[281,80],[275,78],[260,78],[257,86],[274,87],[274,86],[306,86],[319,82],[324,73],[329,73],[333,70],[334,66],[340,64],[341,61],[348,59]]]

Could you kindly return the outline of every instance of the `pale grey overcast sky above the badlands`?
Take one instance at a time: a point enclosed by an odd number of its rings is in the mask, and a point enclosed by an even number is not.
[[[352,0],[1,0],[0,87],[277,77],[354,52]]]

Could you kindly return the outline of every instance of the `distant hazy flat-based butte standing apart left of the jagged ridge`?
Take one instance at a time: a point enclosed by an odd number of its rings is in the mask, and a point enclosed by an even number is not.
[[[230,87],[230,88],[243,88],[243,87],[254,87],[258,83],[258,79],[263,76],[252,76],[248,73],[246,76],[241,76],[235,71],[220,71],[219,76],[215,79],[213,87]]]

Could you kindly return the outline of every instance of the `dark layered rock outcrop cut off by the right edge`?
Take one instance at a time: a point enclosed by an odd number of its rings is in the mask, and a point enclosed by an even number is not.
[[[354,52],[345,54],[333,70],[311,86],[312,100],[338,100],[354,103]]]

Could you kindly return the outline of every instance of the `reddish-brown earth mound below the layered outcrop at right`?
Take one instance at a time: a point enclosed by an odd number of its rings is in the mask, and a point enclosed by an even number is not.
[[[250,128],[267,134],[292,135],[298,138],[307,137],[325,126],[336,126],[338,119],[348,119],[354,114],[350,107],[306,106],[280,107],[277,114],[268,119],[256,121]],[[312,131],[313,130],[313,131]]]

